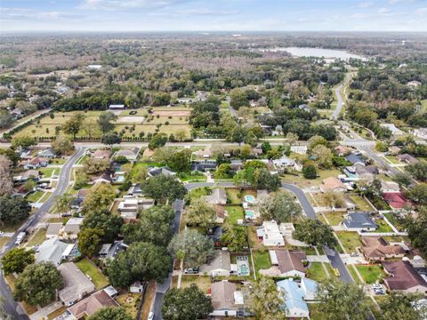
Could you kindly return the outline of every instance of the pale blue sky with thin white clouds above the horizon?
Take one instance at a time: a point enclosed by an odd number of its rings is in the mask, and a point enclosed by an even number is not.
[[[427,31],[427,0],[0,0],[4,31]]]

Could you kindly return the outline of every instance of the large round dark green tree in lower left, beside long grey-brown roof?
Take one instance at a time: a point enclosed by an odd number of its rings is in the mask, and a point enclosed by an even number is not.
[[[60,271],[52,262],[30,264],[16,280],[13,298],[32,306],[44,306],[55,300],[56,292],[63,287]]]

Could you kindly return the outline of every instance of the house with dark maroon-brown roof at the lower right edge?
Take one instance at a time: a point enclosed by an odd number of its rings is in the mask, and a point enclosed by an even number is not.
[[[427,282],[423,276],[416,272],[409,261],[385,261],[384,271],[389,275],[385,277],[384,284],[389,290],[407,293],[427,293]]]

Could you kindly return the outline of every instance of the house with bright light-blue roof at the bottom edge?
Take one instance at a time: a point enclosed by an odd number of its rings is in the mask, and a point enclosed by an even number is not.
[[[310,318],[307,300],[314,300],[318,291],[318,284],[310,279],[302,278],[301,284],[286,279],[278,281],[278,290],[283,296],[285,305],[281,307],[286,312],[286,317]]]

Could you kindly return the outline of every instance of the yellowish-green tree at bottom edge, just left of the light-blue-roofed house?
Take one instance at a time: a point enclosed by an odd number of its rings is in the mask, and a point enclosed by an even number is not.
[[[279,320],[286,317],[281,308],[284,300],[272,279],[261,276],[257,280],[252,280],[246,291],[247,306],[254,312],[256,320]]]

